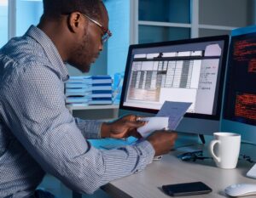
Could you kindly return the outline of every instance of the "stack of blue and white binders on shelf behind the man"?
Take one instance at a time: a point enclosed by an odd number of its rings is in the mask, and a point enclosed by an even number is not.
[[[66,82],[67,105],[111,105],[111,76],[70,76]]]

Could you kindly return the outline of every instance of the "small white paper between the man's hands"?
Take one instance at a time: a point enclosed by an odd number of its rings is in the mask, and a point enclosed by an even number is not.
[[[147,123],[143,127],[138,127],[137,132],[140,133],[143,138],[146,138],[155,130],[167,129],[169,117],[143,117],[141,121],[146,121]]]

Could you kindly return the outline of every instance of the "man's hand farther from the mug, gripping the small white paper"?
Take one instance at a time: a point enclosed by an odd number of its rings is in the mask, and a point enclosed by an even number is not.
[[[139,116],[123,116],[114,122],[104,122],[101,136],[113,139],[123,139],[129,136],[141,138],[141,135],[137,133],[137,127],[142,127],[145,123],[139,121]]]

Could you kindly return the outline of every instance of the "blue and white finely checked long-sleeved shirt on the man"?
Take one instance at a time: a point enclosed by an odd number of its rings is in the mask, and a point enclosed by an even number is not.
[[[91,194],[153,160],[148,141],[97,150],[102,122],[74,118],[65,106],[67,67],[49,37],[31,26],[0,49],[0,197],[31,195],[50,173]]]

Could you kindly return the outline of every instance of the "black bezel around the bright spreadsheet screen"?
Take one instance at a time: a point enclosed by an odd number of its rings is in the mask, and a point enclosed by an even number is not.
[[[222,62],[220,64],[221,69],[220,69],[220,76],[219,76],[218,93],[215,93],[215,95],[218,97],[216,114],[215,115],[207,115],[207,114],[197,114],[197,113],[186,113],[184,115],[185,117],[191,117],[191,118],[200,118],[200,119],[207,119],[207,120],[219,120],[220,119],[221,106],[222,106],[222,99],[223,99],[224,74],[225,74],[225,69],[226,69],[226,61],[227,61],[229,40],[230,40],[229,35],[221,35],[221,36],[212,36],[212,37],[189,38],[189,39],[168,41],[168,42],[152,42],[152,43],[143,43],[143,44],[132,44],[132,45],[130,45],[128,55],[127,55],[127,60],[126,60],[125,76],[124,76],[122,93],[121,93],[121,97],[120,97],[119,109],[121,109],[121,110],[135,110],[135,111],[141,111],[141,112],[147,112],[147,113],[153,113],[153,114],[156,114],[159,111],[159,110],[154,110],[154,109],[138,108],[138,107],[132,107],[132,106],[125,106],[124,105],[125,89],[126,89],[127,83],[128,83],[128,76],[129,76],[130,65],[131,65],[131,53],[132,53],[133,49],[165,47],[165,46],[173,46],[173,45],[186,44],[186,43],[195,43],[195,42],[224,41],[224,48],[223,48],[224,50],[223,50]]]

